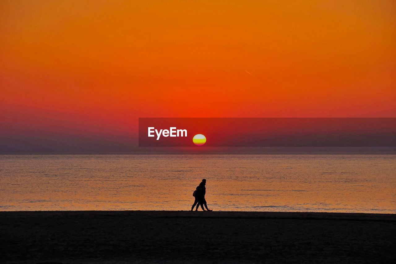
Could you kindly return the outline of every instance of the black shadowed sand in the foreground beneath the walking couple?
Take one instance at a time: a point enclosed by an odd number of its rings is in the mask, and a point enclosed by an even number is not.
[[[395,263],[396,214],[0,212],[4,263]]]

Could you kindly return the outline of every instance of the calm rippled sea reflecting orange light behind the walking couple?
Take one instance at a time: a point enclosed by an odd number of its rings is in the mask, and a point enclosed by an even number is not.
[[[396,155],[2,155],[0,210],[396,213]]]

